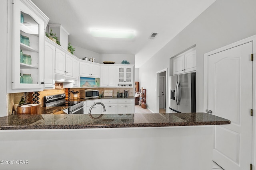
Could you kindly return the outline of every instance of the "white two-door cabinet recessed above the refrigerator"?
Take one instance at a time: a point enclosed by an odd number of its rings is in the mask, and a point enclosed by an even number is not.
[[[173,74],[196,71],[196,49],[191,49],[173,58]]]

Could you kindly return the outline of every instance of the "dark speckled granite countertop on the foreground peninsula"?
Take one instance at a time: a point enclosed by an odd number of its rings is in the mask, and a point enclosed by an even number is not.
[[[92,116],[98,117],[100,115]],[[98,119],[93,119],[88,114],[8,115],[0,117],[0,130],[169,127],[224,124],[230,124],[230,121],[208,113],[104,114]]]

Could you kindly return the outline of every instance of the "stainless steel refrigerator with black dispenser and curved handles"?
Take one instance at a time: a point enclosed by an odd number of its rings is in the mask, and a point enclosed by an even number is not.
[[[170,76],[169,108],[172,113],[196,112],[196,72]]]

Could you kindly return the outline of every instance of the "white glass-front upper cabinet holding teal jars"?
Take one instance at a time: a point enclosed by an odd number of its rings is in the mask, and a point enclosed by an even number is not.
[[[12,89],[43,90],[49,18],[30,0],[13,0],[12,16]]]

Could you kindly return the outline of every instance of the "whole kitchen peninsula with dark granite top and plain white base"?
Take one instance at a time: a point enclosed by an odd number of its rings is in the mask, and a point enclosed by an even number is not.
[[[0,168],[210,170],[213,128],[225,124],[208,113],[9,115],[0,117],[0,158],[29,164]]]

